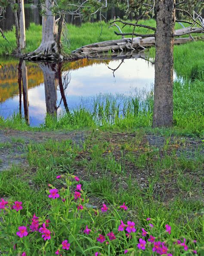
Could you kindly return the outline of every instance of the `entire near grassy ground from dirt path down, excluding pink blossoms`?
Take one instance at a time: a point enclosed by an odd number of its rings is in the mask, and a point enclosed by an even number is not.
[[[135,251],[131,255],[151,256],[150,234],[156,241],[165,241],[168,253],[174,256],[193,255],[193,250],[202,255],[203,160],[199,141],[192,144],[183,136],[155,136],[142,129],[132,134],[100,129],[70,137],[66,133],[67,139],[62,141],[62,133],[56,134],[57,141],[40,141],[39,136],[36,134],[37,141],[30,143],[30,137],[18,137],[0,144],[1,150],[22,150],[27,159],[25,166],[14,165],[0,173],[0,197],[11,205],[22,202],[22,210],[0,213],[1,255],[26,252],[49,256],[57,250],[65,253],[60,244],[68,240],[70,255],[124,255],[124,250],[128,250],[127,255]],[[70,175],[79,177],[84,201],[73,200],[76,182]],[[48,197],[48,190],[53,187],[65,198],[65,203],[60,198]],[[123,203],[127,211],[119,207]],[[79,204],[83,209],[77,211]],[[101,210],[103,204],[108,207],[106,212]],[[30,230],[34,213],[40,226],[49,219],[49,240],[44,241],[38,231],[30,231],[22,238],[16,235],[19,226],[28,225]],[[132,239],[118,231],[120,220],[134,222],[136,233],[130,233]],[[170,234],[165,231],[166,224],[171,227]],[[83,232],[86,225],[92,230],[89,235]],[[145,237],[141,227],[148,232]],[[106,235],[110,231],[114,232],[114,240]],[[99,234],[104,235],[105,242],[97,242]],[[146,247],[137,251],[141,237]],[[183,243],[184,238],[188,247],[185,250],[177,242]]]

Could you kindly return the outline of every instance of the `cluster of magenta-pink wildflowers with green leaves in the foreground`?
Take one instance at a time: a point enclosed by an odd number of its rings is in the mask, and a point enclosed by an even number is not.
[[[56,181],[66,184],[66,187],[57,189],[49,184],[49,210],[45,216],[33,214],[28,217],[22,214],[22,202],[0,199],[3,220],[0,221],[0,230],[3,230],[5,243],[3,253],[63,256],[67,251],[71,254],[77,252],[77,255],[86,251],[88,255],[105,256],[108,250],[112,250],[111,255],[144,253],[173,256],[185,252],[197,255],[197,241],[185,237],[177,239],[172,235],[172,225],[164,220],[146,218],[143,220],[145,225],[139,227],[135,221],[127,219],[125,202],[114,211],[105,203],[99,209],[89,208],[77,176],[58,175]],[[101,226],[104,218],[109,218],[112,225]],[[7,240],[12,242],[7,243]]]

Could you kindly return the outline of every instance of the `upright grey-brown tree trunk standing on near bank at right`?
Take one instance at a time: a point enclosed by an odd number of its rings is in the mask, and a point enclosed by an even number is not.
[[[155,92],[153,127],[170,127],[173,122],[173,34],[175,0],[157,0],[155,32]]]

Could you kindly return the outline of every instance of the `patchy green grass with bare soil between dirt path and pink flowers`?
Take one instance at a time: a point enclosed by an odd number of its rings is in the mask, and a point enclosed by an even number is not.
[[[22,214],[42,216],[49,211],[48,184],[61,187],[56,176],[72,173],[80,177],[91,205],[100,209],[105,202],[116,209],[125,202],[129,208],[125,220],[131,219],[137,226],[145,224],[147,217],[164,220],[173,227],[173,238],[196,239],[199,247],[204,239],[203,159],[196,154],[192,159],[182,153],[178,156],[175,146],[188,150],[179,136],[166,136],[160,148],[150,146],[141,129],[130,136],[94,131],[80,146],[71,140],[32,143],[27,146],[26,168],[13,166],[0,173],[0,197],[22,201]],[[108,212],[95,225],[107,230],[112,223]]]

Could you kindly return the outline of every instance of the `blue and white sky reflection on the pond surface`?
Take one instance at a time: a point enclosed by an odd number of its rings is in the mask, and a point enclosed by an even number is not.
[[[77,70],[71,70],[71,82],[65,90],[65,95],[69,109],[76,108],[81,103],[81,97],[96,96],[99,93],[117,93],[130,94],[130,89],[150,90],[154,82],[154,66],[142,59],[127,59],[121,64],[121,67],[115,71],[113,77],[112,70],[116,68],[121,61],[111,61],[108,65],[105,63],[82,67]],[[65,75],[68,71],[65,71]],[[61,99],[59,88],[57,90],[57,106]],[[22,97],[23,99],[23,97]],[[28,90],[29,116],[30,124],[37,126],[42,124],[46,114],[45,90],[44,84],[30,88]],[[59,107],[59,112],[63,111],[63,105]],[[19,95],[7,99],[0,103],[0,115],[7,118],[13,112],[19,111]],[[23,113],[23,102],[22,102]]]

